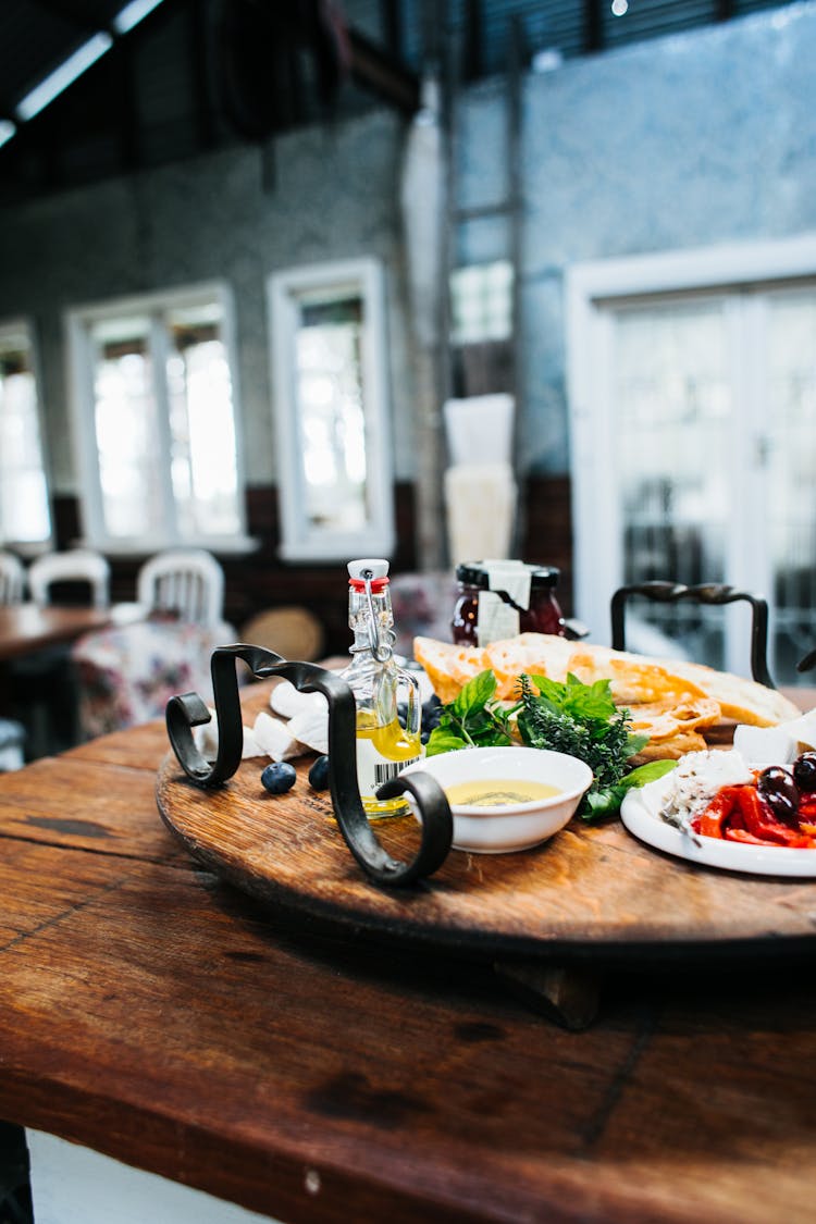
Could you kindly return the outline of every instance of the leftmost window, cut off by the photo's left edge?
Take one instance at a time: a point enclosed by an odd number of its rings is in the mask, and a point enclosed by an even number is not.
[[[0,545],[48,545],[34,346],[27,323],[0,324]]]

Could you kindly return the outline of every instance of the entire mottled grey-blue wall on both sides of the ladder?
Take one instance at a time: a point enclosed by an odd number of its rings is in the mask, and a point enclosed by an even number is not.
[[[524,86],[522,284],[532,471],[569,465],[563,278],[574,261],[816,229],[816,0],[656,39]],[[465,106],[461,200],[500,200],[504,111],[488,82]],[[76,487],[62,312],[108,295],[225,278],[237,304],[248,477],[274,480],[264,280],[276,268],[373,253],[388,269],[398,476],[410,477],[412,381],[399,166],[390,113],[43,198],[0,213],[0,317],[31,315],[57,492]],[[500,220],[461,256],[506,251]]]

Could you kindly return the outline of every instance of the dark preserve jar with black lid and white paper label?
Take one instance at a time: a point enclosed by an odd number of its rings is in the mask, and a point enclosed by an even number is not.
[[[466,562],[456,567],[458,599],[451,621],[458,645],[487,646],[519,633],[566,636],[555,597],[560,570],[522,562]]]

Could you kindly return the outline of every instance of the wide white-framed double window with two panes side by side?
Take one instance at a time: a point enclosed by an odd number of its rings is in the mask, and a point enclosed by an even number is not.
[[[71,311],[84,532],[98,548],[247,546],[223,286]]]

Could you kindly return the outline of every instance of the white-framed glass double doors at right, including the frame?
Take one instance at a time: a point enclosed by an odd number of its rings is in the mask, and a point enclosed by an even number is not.
[[[579,614],[599,636],[624,581],[730,583],[768,599],[771,672],[801,683],[816,601],[816,244],[697,255],[571,278]],[[746,673],[744,605],[632,611],[701,662]]]

